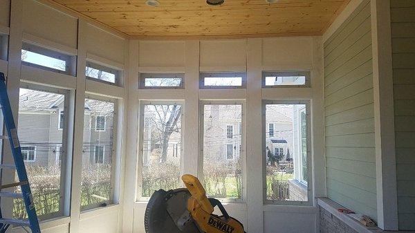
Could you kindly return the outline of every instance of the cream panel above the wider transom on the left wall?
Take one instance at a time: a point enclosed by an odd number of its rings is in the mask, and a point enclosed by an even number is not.
[[[77,19],[32,0],[23,1],[23,30],[70,48],[77,48]]]

